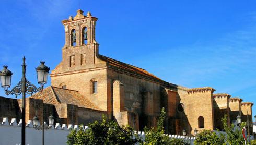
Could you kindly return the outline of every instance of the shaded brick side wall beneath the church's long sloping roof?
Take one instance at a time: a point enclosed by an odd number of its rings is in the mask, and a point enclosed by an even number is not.
[[[161,95],[162,88],[165,87],[164,84],[140,78],[139,76],[134,77],[123,71],[110,68],[107,70],[107,77],[108,114],[112,114],[115,111],[131,112],[134,113],[133,116],[139,116],[139,119],[134,120],[133,123],[133,125],[139,125],[139,130],[142,130],[145,125],[156,127],[156,120],[160,114],[160,108],[163,107],[161,106],[161,100],[163,97],[167,100],[168,97],[167,95]],[[121,92],[123,92],[124,98],[120,95],[113,96],[113,94],[117,94],[113,87],[113,85],[117,85],[114,84],[117,80],[122,83],[124,90]],[[120,90],[118,92],[120,94]],[[119,100],[119,108],[116,107],[117,105],[115,105],[116,103],[113,100],[118,98],[121,98],[121,101]],[[128,118],[126,117],[126,120],[120,120],[120,122],[127,122]]]

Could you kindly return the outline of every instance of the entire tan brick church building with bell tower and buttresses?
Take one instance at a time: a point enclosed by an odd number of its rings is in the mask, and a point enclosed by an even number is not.
[[[193,134],[195,128],[223,129],[220,118],[225,114],[228,124],[242,115],[241,111],[252,114],[252,103],[241,107],[241,99],[213,94],[211,87],[181,87],[142,68],[100,55],[96,21],[89,12],[84,16],[82,10],[77,10],[74,18],[62,21],[62,61],[51,72],[51,87],[26,99],[26,120],[34,115],[41,119],[44,111],[44,118],[53,114],[56,122],[88,124],[106,114],[119,125],[129,124],[142,130],[145,126],[156,127],[164,107],[167,133],[179,135],[183,129],[187,134]],[[20,118],[19,102],[0,98],[0,103],[5,104],[0,117]]]

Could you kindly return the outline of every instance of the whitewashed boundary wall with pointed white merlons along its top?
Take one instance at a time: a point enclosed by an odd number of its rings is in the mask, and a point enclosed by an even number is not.
[[[50,129],[44,130],[44,144],[47,145],[59,145],[66,144],[67,135],[69,134],[70,129],[78,129],[78,125],[66,125],[60,123],[56,123],[55,126],[51,126]],[[88,126],[83,126],[83,129],[88,129]],[[145,132],[135,131],[135,134],[144,140]],[[179,136],[179,135],[165,135],[170,139],[183,139],[185,142],[190,143],[190,138],[187,136]],[[191,142],[193,144],[195,138],[191,138]],[[42,142],[42,131],[36,130],[33,128],[32,121],[28,120],[26,124],[26,144],[41,144]],[[20,145],[21,144],[21,119],[17,124],[15,118],[11,119],[9,122],[8,118],[4,118],[3,122],[0,124],[0,145]]]

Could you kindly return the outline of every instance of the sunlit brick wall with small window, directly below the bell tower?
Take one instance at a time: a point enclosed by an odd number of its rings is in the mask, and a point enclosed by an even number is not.
[[[106,68],[96,70],[83,70],[77,73],[65,75],[52,75],[52,86],[60,87],[61,83],[66,84],[66,89],[76,90],[86,97],[90,102],[97,105],[102,110],[107,111],[107,75]],[[90,81],[94,79],[98,82],[97,93],[91,93]]]

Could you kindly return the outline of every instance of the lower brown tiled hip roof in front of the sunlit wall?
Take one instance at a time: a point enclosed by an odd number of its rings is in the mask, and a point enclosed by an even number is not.
[[[46,104],[73,104],[78,107],[90,108],[93,110],[103,111],[88,99],[82,96],[78,91],[62,89],[57,87],[47,87],[42,92],[38,92],[31,98],[41,99]]]

